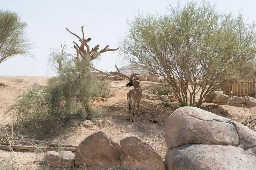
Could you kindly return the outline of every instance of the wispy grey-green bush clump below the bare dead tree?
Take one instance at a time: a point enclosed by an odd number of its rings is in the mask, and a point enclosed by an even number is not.
[[[9,110],[14,126],[31,129],[40,134],[59,133],[69,119],[94,120],[100,112],[92,107],[92,97],[109,97],[110,84],[99,81],[90,70],[90,61],[68,59],[70,55],[54,53],[63,58],[58,75],[47,86],[33,86],[28,93],[17,97]]]

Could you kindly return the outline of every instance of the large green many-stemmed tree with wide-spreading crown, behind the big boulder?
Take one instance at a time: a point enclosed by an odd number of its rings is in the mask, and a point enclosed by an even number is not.
[[[225,81],[253,74],[255,24],[245,23],[241,12],[219,13],[206,2],[178,3],[169,12],[135,16],[120,55],[164,77],[181,106],[197,107]]]

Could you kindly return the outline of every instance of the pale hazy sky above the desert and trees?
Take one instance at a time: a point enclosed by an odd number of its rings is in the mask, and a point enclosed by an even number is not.
[[[125,35],[128,25],[126,18],[133,19],[139,11],[166,13],[170,4],[177,5],[172,0],[0,0],[0,9],[18,12],[22,20],[27,22],[27,33],[36,49],[31,53],[35,59],[15,56],[0,64],[0,76],[53,76],[55,73],[48,67],[48,56],[52,48],[60,48],[60,41],[65,41],[68,47],[77,38],[69,34],[65,27],[72,32],[81,34],[80,27],[84,26],[85,37],[91,37],[90,48],[100,44],[100,49],[106,45],[117,48],[120,37]],[[181,0],[184,4],[186,0]],[[198,1],[200,2],[200,1]],[[216,4],[221,12],[232,11],[238,14],[240,9],[248,22],[256,20],[253,0],[209,0]],[[74,48],[67,52],[75,53]],[[121,66],[117,53],[106,52],[101,60],[95,63],[97,69],[114,71],[114,64]]]

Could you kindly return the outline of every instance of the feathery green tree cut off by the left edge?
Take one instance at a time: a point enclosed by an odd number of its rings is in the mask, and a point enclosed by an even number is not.
[[[25,35],[27,23],[17,13],[0,10],[0,63],[15,55],[28,55],[32,44]]]

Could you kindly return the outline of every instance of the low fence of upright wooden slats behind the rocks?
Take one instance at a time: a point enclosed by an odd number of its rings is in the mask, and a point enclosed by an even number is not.
[[[229,97],[238,96],[245,98],[245,96],[250,96],[255,98],[256,80],[228,82],[223,86],[223,94],[227,94]]]

